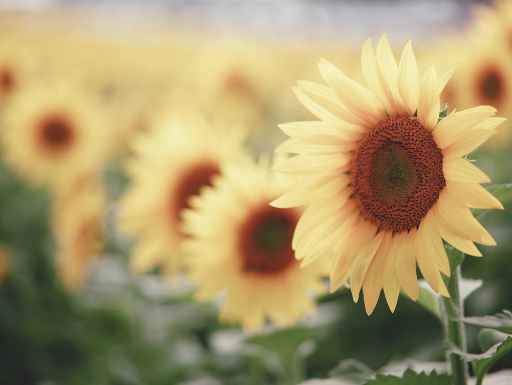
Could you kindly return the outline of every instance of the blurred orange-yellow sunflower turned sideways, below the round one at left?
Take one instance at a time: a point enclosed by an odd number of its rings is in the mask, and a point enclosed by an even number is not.
[[[92,261],[103,247],[105,199],[100,181],[91,175],[77,177],[54,197],[56,267],[68,290],[83,285]]]

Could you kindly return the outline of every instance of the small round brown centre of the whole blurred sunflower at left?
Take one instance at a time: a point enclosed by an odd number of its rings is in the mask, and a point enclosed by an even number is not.
[[[37,130],[41,147],[50,152],[65,150],[75,139],[75,130],[69,119],[58,114],[42,118]]]

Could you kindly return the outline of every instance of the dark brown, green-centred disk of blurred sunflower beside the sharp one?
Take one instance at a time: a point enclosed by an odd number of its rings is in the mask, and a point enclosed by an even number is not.
[[[298,215],[291,209],[262,205],[240,227],[239,250],[247,272],[275,273],[295,260],[291,248]]]

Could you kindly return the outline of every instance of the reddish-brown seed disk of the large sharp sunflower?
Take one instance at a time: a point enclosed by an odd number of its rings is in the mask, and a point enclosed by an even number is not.
[[[380,121],[359,141],[350,170],[353,198],[381,230],[410,230],[446,186],[443,157],[415,117]]]

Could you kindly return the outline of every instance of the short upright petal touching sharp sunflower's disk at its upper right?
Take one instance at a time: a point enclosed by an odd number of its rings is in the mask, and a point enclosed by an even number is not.
[[[439,119],[439,91],[436,69],[430,67],[421,78],[418,97],[418,121],[432,131]]]

